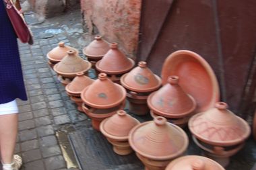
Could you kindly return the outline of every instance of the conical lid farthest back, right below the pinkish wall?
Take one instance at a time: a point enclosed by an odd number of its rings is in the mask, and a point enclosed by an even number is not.
[[[94,40],[83,49],[86,56],[100,58],[109,50],[109,44],[102,40],[101,36],[96,36]]]

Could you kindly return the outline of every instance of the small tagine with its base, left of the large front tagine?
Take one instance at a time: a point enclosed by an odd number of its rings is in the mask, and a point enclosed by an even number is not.
[[[126,114],[124,110],[119,110],[117,114],[101,122],[100,132],[113,144],[115,153],[129,155],[133,150],[128,142],[128,134],[137,124],[139,124],[138,120]]]

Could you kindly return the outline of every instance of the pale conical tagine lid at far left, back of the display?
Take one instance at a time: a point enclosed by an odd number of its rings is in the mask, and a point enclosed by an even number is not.
[[[49,51],[46,56],[51,62],[60,62],[67,55],[68,50],[75,50],[75,54],[78,54],[77,49],[65,46],[64,42],[59,42],[59,45]]]

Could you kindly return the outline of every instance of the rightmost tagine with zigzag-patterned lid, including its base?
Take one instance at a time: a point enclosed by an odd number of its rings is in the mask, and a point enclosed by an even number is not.
[[[247,122],[227,108],[226,103],[217,102],[215,108],[189,120],[189,130],[197,146],[223,167],[228,165],[230,156],[243,148],[251,132]]]

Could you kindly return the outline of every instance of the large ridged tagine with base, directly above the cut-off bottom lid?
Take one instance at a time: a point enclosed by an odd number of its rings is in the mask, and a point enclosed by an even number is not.
[[[129,133],[129,144],[145,169],[164,170],[170,161],[185,153],[189,139],[179,126],[158,116],[135,126]]]

